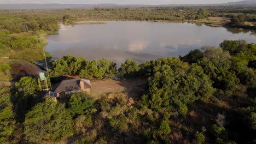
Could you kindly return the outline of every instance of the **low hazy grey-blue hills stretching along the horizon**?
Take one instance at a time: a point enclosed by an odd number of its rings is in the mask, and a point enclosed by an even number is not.
[[[256,0],[246,0],[232,3],[220,3],[220,4],[167,4],[167,5],[141,5],[141,4],[129,4],[119,5],[112,3],[105,4],[0,4],[0,9],[65,9],[65,8],[138,8],[138,7],[175,7],[175,6],[207,6],[207,5],[256,5]]]

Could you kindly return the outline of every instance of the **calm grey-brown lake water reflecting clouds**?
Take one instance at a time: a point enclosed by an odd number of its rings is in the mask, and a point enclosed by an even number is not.
[[[255,32],[254,32],[255,33]],[[87,60],[106,58],[120,65],[126,59],[138,62],[184,56],[190,50],[225,40],[245,39],[256,43],[251,31],[238,31],[191,23],[107,21],[107,24],[63,26],[48,35],[46,51],[55,58],[65,55]]]

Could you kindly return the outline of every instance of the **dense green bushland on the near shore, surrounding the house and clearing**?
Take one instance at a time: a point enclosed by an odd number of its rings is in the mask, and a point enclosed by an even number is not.
[[[106,59],[64,56],[50,76],[81,75],[121,80],[148,79],[146,88],[95,100],[75,93],[68,101],[42,101],[37,80],[22,77],[1,87],[3,143],[253,143],[256,128],[256,44],[225,40],[184,57],[117,70]],[[11,69],[8,64],[1,70]]]

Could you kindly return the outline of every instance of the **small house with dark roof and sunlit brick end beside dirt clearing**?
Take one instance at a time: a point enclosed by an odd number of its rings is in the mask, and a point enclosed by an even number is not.
[[[77,91],[91,92],[91,82],[85,79],[71,79],[63,80],[54,86],[54,92],[57,93],[57,97],[65,97],[73,94]]]

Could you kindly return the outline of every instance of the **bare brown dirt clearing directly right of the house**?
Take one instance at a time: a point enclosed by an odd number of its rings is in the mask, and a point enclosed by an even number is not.
[[[93,97],[100,97],[106,93],[113,92],[130,92],[135,87],[145,87],[147,79],[130,80],[130,81],[116,81],[116,80],[92,80],[91,94]]]

